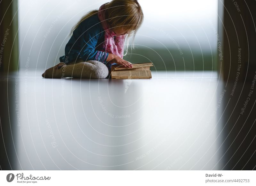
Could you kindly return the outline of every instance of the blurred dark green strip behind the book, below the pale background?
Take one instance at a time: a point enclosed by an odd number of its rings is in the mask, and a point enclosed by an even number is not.
[[[152,71],[217,71],[217,52],[177,48],[135,48],[124,59],[131,63],[154,63]]]

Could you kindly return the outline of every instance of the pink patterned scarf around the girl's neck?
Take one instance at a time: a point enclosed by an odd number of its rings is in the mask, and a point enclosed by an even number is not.
[[[105,4],[102,4],[99,8],[98,17],[101,21],[101,25],[103,29],[105,30],[105,51],[111,54],[115,54],[117,56],[120,56],[123,58],[124,55],[124,41],[125,41],[125,35],[117,36],[111,28],[109,28],[108,23],[105,19]],[[116,36],[116,39],[114,39],[114,36]]]

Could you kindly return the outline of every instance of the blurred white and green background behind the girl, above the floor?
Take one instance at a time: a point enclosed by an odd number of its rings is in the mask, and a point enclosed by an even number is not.
[[[109,1],[19,0],[19,67],[50,68],[64,55],[69,32],[88,11]],[[139,0],[145,15],[135,50],[124,59],[155,70],[217,70],[217,0]],[[27,67],[26,67],[27,65]],[[154,70],[152,68],[152,70]]]

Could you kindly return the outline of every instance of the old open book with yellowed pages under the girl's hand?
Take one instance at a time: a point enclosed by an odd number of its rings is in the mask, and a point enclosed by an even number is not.
[[[152,78],[150,67],[153,63],[132,63],[132,68],[115,64],[111,66],[111,78],[114,79],[149,79]]]

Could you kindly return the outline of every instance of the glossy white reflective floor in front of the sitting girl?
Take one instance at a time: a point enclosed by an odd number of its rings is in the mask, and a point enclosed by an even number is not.
[[[43,71],[6,79],[18,88],[15,169],[220,169],[217,72],[80,80]]]

